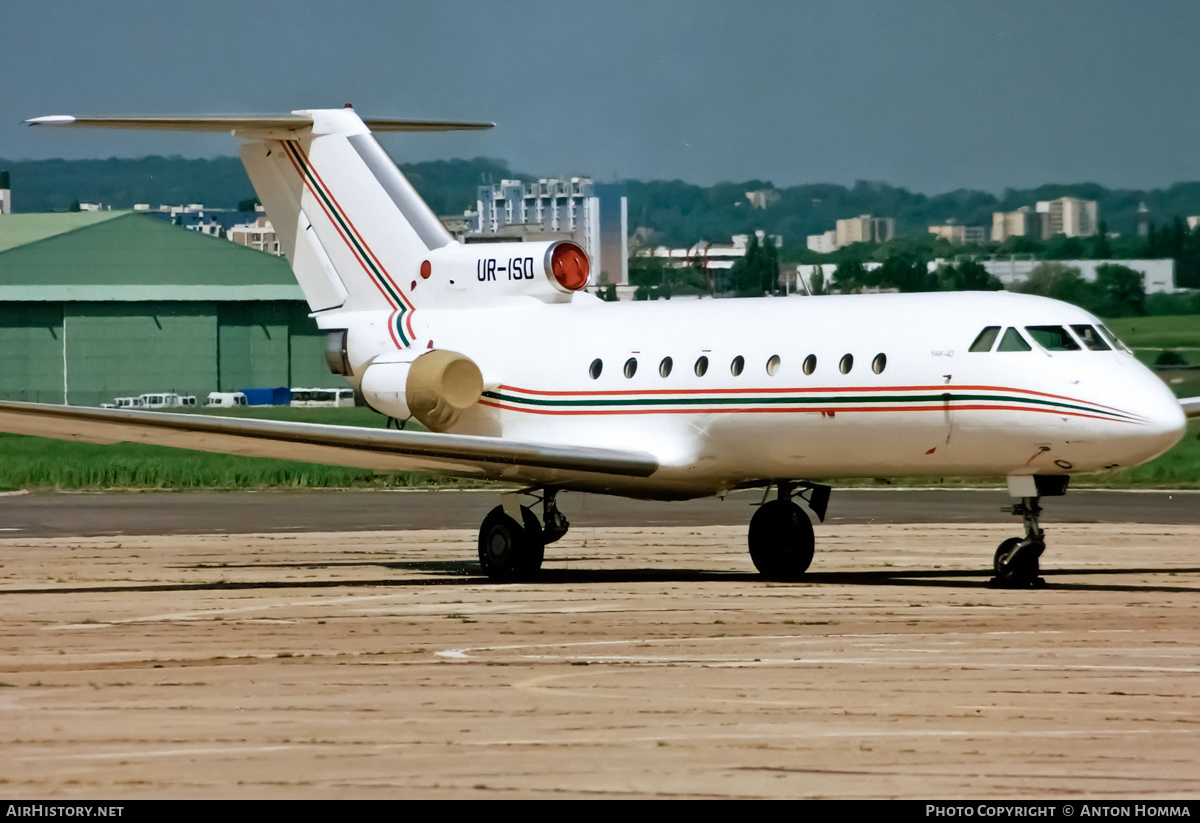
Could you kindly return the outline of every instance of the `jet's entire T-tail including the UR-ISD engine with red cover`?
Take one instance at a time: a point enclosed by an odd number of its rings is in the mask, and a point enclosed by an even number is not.
[[[510,296],[570,300],[589,277],[569,241],[458,244],[376,142],[372,131],[490,128],[491,124],[362,120],[350,108],[284,116],[74,118],[37,126],[233,132],[241,158],[322,328],[331,316],[386,313],[397,349],[420,343],[425,306]]]

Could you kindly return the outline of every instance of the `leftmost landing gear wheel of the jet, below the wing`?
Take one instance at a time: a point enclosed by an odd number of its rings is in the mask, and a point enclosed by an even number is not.
[[[479,565],[493,581],[529,579],[541,569],[546,545],[570,528],[558,510],[557,488],[541,498],[541,523],[528,506],[496,506],[479,527]],[[517,522],[520,516],[520,522]]]

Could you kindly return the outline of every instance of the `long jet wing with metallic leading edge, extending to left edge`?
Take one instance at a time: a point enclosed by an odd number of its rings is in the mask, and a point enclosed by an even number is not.
[[[640,451],[43,403],[0,402],[0,431],[60,440],[149,443],[380,471],[437,471],[516,482],[526,482],[530,471],[552,482],[559,473],[648,477],[659,468],[653,455]]]

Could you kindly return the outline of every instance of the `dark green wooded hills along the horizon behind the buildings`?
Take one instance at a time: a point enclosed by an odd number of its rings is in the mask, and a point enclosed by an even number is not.
[[[502,160],[475,157],[424,163],[401,163],[413,186],[439,215],[462,214],[476,199],[476,186],[505,178],[534,179],[512,172]],[[72,202],[104,203],[128,209],[134,203],[204,203],[234,208],[254,192],[235,157],[186,160],[182,157],[140,157],[136,160],[0,160],[0,169],[11,172],[13,205],[18,211],[66,211]],[[1117,245],[1139,239],[1140,221],[1157,223],[1158,233],[1174,233],[1175,221],[1200,215],[1200,182],[1180,182],[1166,188],[1105,188],[1096,184],[1046,185],[1036,188],[1007,188],[996,196],[974,190],[923,194],[882,182],[859,181],[853,186],[805,184],[776,187],[769,180],[719,182],[697,186],[682,180],[625,180],[629,197],[629,228],[649,229],[658,244],[686,247],[701,240],[728,242],[748,224],[767,234],[782,235],[781,254],[790,259],[803,252],[805,238],[834,228],[839,218],[863,214],[893,217],[896,234],[928,236],[930,226],[954,221],[962,226],[991,227],[994,211],[1013,211],[1038,200],[1079,197],[1097,200],[1105,221],[1105,233],[1121,235]],[[746,192],[769,190],[775,197],[766,209],[756,209]],[[1141,206],[1146,211],[1140,211]],[[1104,234],[1104,233],[1102,233]],[[943,241],[944,242],[944,241]],[[1024,238],[1012,238],[1001,253],[1030,251]],[[1043,246],[1049,258],[1086,257],[1086,239],[1069,238]],[[1128,257],[1114,248],[1114,257]]]

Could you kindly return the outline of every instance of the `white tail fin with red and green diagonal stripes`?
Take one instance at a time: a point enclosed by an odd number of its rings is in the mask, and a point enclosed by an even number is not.
[[[312,128],[241,149],[242,162],[314,312],[390,310],[413,340],[408,282],[455,240],[349,109],[298,112]]]

